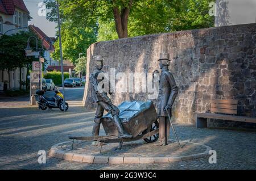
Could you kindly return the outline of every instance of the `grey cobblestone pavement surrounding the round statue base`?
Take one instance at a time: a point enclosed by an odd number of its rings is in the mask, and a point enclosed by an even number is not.
[[[180,140],[205,144],[217,151],[217,164],[208,158],[166,164],[98,165],[60,161],[47,157],[39,164],[39,150],[69,141],[68,136],[90,136],[94,112],[79,103],[66,113],[37,108],[0,109],[0,169],[256,169],[256,133],[224,129],[196,129],[175,124]],[[101,134],[104,134],[101,128]],[[171,134],[171,138],[174,135]],[[154,150],[153,150],[154,151]]]

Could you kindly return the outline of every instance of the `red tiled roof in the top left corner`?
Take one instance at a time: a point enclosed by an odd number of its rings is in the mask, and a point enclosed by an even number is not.
[[[15,11],[15,7],[18,7],[20,10],[27,12],[30,14],[30,11],[27,10],[26,5],[23,0],[0,0],[5,7],[7,14],[13,15]]]

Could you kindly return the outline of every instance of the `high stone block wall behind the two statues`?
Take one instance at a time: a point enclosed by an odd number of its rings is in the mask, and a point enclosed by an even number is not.
[[[170,53],[170,70],[179,94],[173,119],[195,123],[196,112],[209,112],[212,99],[238,100],[238,115],[256,117],[256,24],[206,28],[102,41],[87,50],[87,75],[93,71],[92,57],[105,58],[104,71],[145,72],[159,70],[158,57]],[[118,83],[118,81],[116,81]],[[115,104],[124,100],[147,100],[148,93],[114,93]],[[156,99],[153,99],[154,103]],[[89,81],[84,105],[94,108]]]

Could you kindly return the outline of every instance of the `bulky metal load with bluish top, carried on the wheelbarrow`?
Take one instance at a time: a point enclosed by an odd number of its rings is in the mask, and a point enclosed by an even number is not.
[[[154,104],[151,101],[125,101],[118,106],[118,109],[123,128],[134,138],[146,131],[158,119]],[[117,128],[110,113],[102,117],[102,125],[106,135],[118,136]]]

